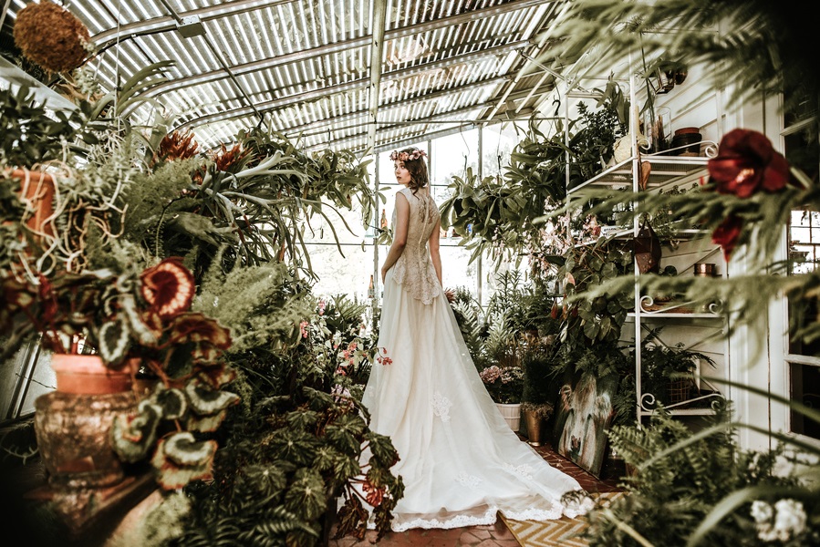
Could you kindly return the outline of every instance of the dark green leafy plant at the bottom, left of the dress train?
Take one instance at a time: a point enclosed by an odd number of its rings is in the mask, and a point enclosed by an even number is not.
[[[275,396],[270,384],[251,378],[239,380],[251,401],[228,419],[215,480],[188,487],[193,511],[168,544],[317,545],[328,508],[340,495],[358,502],[357,485],[365,483],[382,494],[379,535],[389,530],[389,510],[403,495],[400,478],[389,473],[398,454],[388,438],[368,429],[358,399],[310,387]],[[372,456],[363,462],[366,447]],[[363,533],[362,516],[343,508],[338,533]]]

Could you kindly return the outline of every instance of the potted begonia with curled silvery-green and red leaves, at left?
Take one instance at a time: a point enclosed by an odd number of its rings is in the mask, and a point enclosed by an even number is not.
[[[151,457],[161,486],[168,490],[210,476],[216,442],[195,439],[194,432],[215,431],[225,409],[238,399],[223,389],[234,374],[221,359],[231,337],[212,318],[191,311],[192,274],[180,259],[165,259],[141,272],[119,275],[97,271],[41,277],[38,285],[5,278],[3,294],[0,318],[11,333],[11,344],[2,357],[37,333],[57,362],[70,354],[95,352],[96,356],[85,357],[102,361],[103,373],[111,368],[130,375],[127,363],[139,359],[160,381],[150,397],[140,401],[139,409],[111,417],[111,449],[126,462]],[[65,373],[77,370],[78,366],[69,365]],[[36,426],[43,425],[38,436],[51,431],[46,423],[57,413],[54,405],[76,411],[93,407],[99,398],[76,393],[77,388],[66,393],[63,385],[58,377],[57,391],[37,399]],[[132,392],[129,395],[134,397]],[[164,420],[171,420],[175,428],[163,431]],[[56,432],[59,435],[60,429]],[[59,450],[67,456],[43,454],[47,469],[56,478],[63,477],[64,459],[79,459],[77,449],[90,449],[62,437],[67,443],[60,444]],[[44,448],[57,449],[57,440],[38,440]]]

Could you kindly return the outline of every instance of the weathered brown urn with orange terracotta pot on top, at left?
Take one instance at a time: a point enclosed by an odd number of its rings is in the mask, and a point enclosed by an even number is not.
[[[56,354],[57,390],[37,397],[37,448],[56,490],[118,484],[125,471],[110,441],[114,417],[137,412],[130,370],[111,370],[99,356]]]

